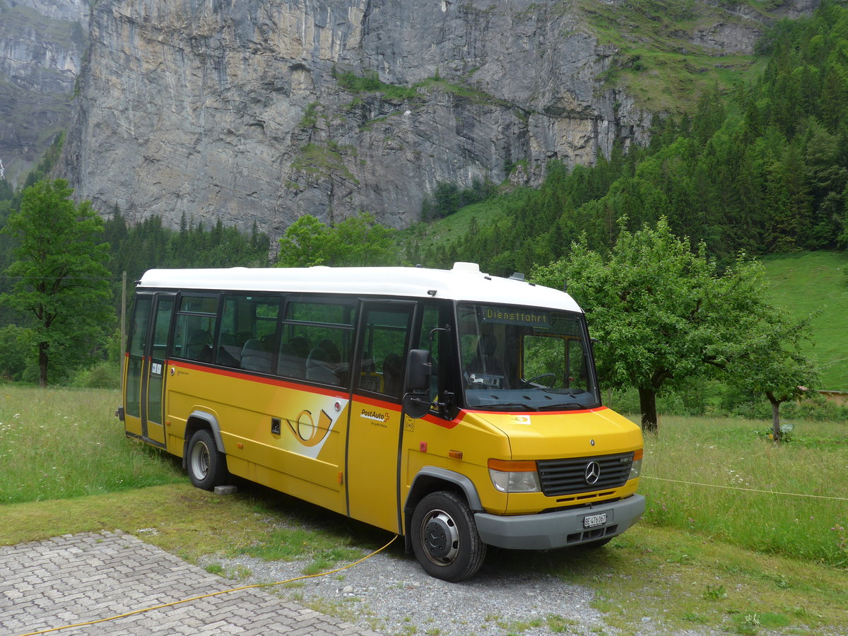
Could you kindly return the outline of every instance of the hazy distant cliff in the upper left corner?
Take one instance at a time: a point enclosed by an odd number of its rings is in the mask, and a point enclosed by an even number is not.
[[[0,164],[14,185],[70,121],[87,14],[81,0],[0,0]]]

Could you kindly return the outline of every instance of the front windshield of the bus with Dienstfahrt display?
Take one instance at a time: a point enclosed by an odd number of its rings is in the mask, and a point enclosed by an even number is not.
[[[583,315],[460,304],[458,319],[469,407],[575,410],[600,406]]]

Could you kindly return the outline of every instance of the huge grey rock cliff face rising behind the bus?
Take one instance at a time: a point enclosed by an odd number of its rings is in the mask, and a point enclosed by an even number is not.
[[[90,39],[63,171],[130,220],[406,226],[439,181],[538,183],[650,123],[562,0],[101,0]]]

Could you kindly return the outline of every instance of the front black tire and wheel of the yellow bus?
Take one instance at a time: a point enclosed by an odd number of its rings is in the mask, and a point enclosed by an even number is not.
[[[418,502],[410,534],[421,567],[444,581],[473,577],[486,558],[486,544],[477,534],[471,509],[465,499],[449,491],[428,494]]]

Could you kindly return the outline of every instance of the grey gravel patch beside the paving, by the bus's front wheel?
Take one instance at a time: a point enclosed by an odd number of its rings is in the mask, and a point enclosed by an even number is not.
[[[546,618],[557,616],[559,633],[611,633],[599,611],[589,604],[588,588],[562,583],[546,574],[498,572],[487,558],[477,577],[446,583],[428,576],[413,557],[378,554],[343,572],[308,578],[303,587],[268,588],[272,594],[296,600],[363,628],[387,634],[432,636],[523,636],[555,633]],[[225,574],[249,571],[239,583],[276,583],[301,576],[306,561],[261,561],[254,557],[209,558],[202,566],[220,563]]]

